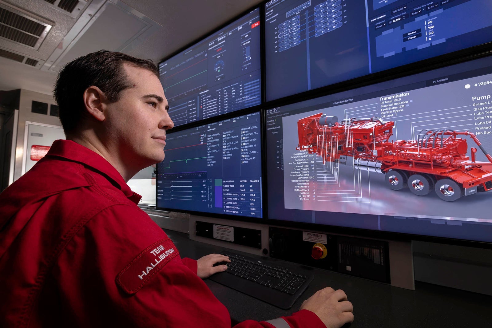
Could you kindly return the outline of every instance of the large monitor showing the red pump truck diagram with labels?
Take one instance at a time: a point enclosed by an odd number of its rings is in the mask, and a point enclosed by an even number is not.
[[[492,242],[491,86],[489,57],[267,110],[268,218]]]

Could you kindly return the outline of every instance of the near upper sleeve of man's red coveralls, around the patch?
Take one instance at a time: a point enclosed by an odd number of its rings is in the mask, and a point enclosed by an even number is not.
[[[184,265],[175,245],[174,257],[157,264],[170,249],[169,241],[158,249],[167,238],[135,205],[115,205],[93,215],[68,241],[47,278],[44,289],[60,300],[60,320],[67,327],[230,328],[229,312],[196,269]],[[141,265],[139,259],[149,251],[155,261]],[[118,277],[123,270],[132,273],[126,281],[137,288],[122,288]]]

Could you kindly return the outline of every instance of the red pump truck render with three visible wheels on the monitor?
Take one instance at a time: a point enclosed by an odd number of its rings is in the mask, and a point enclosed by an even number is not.
[[[433,189],[442,200],[453,202],[462,196],[492,189],[492,157],[471,132],[423,130],[417,140],[389,141],[394,121],[380,118],[343,119],[322,113],[299,119],[298,150],[315,153],[328,161],[359,170],[385,174],[393,190],[408,186],[415,195],[424,196]],[[469,136],[489,162],[466,156]],[[349,159],[347,161],[347,159]]]

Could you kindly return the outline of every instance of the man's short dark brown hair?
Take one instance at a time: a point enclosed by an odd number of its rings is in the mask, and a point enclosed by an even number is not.
[[[145,68],[159,77],[159,70],[151,60],[107,50],[79,57],[60,70],[53,94],[59,106],[65,135],[74,131],[84,115],[87,115],[82,98],[87,88],[96,86],[109,101],[115,102],[119,100],[121,91],[131,87],[123,63]]]

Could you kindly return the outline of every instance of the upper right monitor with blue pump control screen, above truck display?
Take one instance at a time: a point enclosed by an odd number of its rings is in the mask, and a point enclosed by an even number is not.
[[[265,12],[267,101],[492,41],[490,0],[271,0]]]

